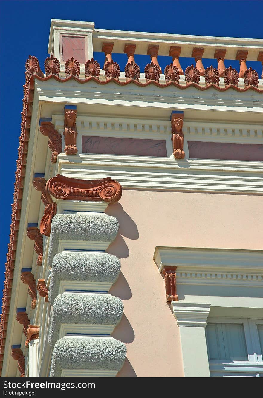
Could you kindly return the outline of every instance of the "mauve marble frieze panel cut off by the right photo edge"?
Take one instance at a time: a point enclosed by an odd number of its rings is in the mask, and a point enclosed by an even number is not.
[[[263,145],[261,144],[188,141],[188,150],[189,157],[192,159],[263,161]]]

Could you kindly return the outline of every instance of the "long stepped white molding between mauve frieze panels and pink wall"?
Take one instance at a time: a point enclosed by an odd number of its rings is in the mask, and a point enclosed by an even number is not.
[[[262,162],[91,154],[74,160],[61,153],[57,173],[80,179],[111,176],[126,189],[263,194]]]

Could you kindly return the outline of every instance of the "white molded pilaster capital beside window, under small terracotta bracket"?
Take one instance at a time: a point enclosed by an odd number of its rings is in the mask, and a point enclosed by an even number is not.
[[[206,327],[206,320],[210,312],[210,304],[172,301],[171,309],[173,315],[177,319],[177,325],[179,327]]]

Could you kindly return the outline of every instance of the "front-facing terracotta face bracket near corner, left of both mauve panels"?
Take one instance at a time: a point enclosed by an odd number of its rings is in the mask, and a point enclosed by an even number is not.
[[[67,155],[75,155],[78,152],[77,142],[77,110],[65,109],[64,110],[64,135],[65,135],[65,149]]]

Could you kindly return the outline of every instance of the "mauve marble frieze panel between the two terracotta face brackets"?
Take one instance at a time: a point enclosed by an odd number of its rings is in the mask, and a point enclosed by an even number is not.
[[[82,153],[166,157],[165,140],[82,135]]]

